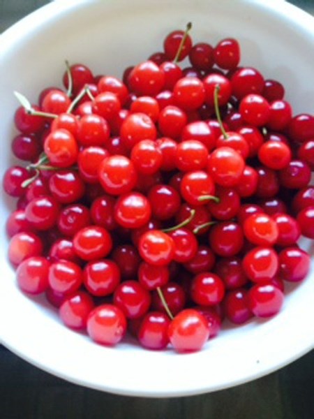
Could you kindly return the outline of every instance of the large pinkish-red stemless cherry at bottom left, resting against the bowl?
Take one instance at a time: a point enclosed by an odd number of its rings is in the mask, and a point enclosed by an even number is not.
[[[114,304],[101,304],[89,313],[87,333],[102,345],[116,345],[126,335],[126,316]]]

